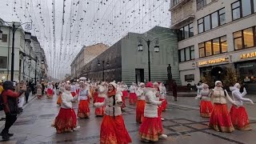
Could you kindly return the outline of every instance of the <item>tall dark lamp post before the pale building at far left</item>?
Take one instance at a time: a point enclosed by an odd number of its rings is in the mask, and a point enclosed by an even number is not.
[[[5,22],[5,23],[7,23],[9,26],[11,26],[11,30],[12,30],[12,33],[13,33],[12,47],[11,47],[10,81],[14,81],[14,41],[15,41],[15,32],[16,32],[16,30],[18,30],[19,26],[22,26],[24,24],[26,24],[26,26],[25,26],[26,29],[32,30],[32,22],[21,23],[18,26],[15,26],[15,22]],[[2,39],[2,30],[0,30],[0,39]]]

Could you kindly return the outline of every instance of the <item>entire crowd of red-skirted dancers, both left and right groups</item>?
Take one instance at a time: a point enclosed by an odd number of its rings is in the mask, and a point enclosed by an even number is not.
[[[241,86],[236,83],[230,86],[233,98],[222,88],[222,82],[215,82],[214,89],[206,83],[197,86],[200,98],[200,115],[210,118],[209,127],[216,131],[232,132],[234,129],[251,130],[250,122],[243,102],[254,104],[244,98],[246,89],[240,93]],[[54,86],[46,86],[48,98],[53,98]],[[101,143],[130,143],[131,138],[126,130],[122,112],[126,110],[126,98],[129,105],[136,106],[134,120],[140,124],[138,134],[143,142],[157,142],[159,138],[167,138],[162,128],[162,111],[166,110],[166,87],[162,82],[132,83],[125,82],[64,82],[59,84],[57,104],[61,106],[52,126],[58,133],[77,130],[77,118],[90,117],[90,99],[95,107],[94,114],[102,116],[100,132]],[[226,99],[232,103],[230,112]],[[77,114],[72,102],[78,102]],[[213,104],[212,104],[213,103]]]

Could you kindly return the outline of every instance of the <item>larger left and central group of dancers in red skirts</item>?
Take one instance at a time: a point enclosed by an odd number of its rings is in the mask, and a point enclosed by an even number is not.
[[[46,86],[47,98],[53,98],[54,86]],[[135,83],[128,88],[125,82],[63,82],[59,84],[57,104],[61,106],[52,126],[57,133],[78,130],[77,118],[90,117],[90,103],[94,114],[102,116],[100,143],[130,143],[122,112],[129,105],[136,106],[134,121],[140,124],[139,136],[143,142],[156,142],[167,138],[162,128],[162,111],[166,110],[166,87],[162,82]],[[92,101],[90,101],[92,99]],[[78,102],[77,114],[72,103]]]

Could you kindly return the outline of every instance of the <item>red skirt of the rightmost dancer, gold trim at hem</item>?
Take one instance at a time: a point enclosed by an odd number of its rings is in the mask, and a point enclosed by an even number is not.
[[[235,129],[238,130],[251,130],[248,114],[244,106],[232,106],[230,109],[230,118]]]

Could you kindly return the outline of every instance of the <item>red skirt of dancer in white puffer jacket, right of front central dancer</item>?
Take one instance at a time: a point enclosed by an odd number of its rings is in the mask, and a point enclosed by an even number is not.
[[[138,134],[142,139],[156,142],[162,133],[163,129],[158,126],[158,118],[144,117],[142,125],[138,131]]]

